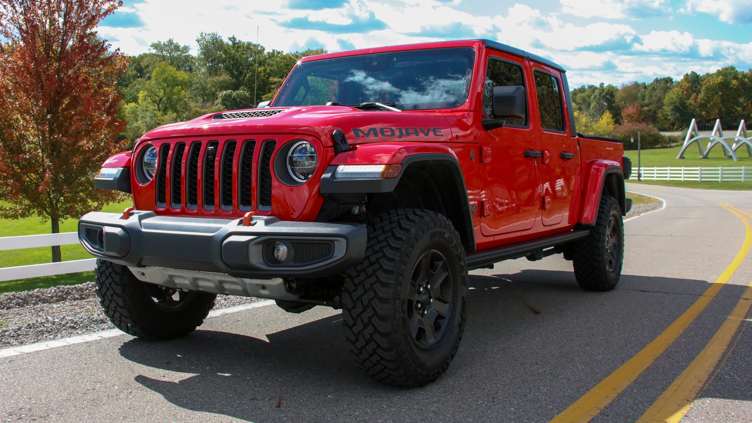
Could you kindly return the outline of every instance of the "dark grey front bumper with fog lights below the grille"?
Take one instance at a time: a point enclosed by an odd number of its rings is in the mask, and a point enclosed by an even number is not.
[[[227,273],[238,278],[322,277],[353,267],[365,255],[362,224],[287,222],[272,216],[205,219],[157,216],[150,211],[87,213],[78,222],[78,237],[92,255],[129,267],[169,267]],[[326,257],[305,262],[267,261],[268,243],[308,246],[326,244]]]

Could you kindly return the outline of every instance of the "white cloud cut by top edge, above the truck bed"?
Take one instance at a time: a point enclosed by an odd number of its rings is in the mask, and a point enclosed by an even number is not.
[[[560,0],[562,11],[578,17],[623,19],[655,16],[671,11],[668,0]]]

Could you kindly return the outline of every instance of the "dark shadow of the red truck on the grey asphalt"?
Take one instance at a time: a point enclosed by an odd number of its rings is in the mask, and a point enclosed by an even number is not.
[[[458,355],[437,382],[415,389],[380,385],[356,369],[341,340],[340,315],[266,340],[208,330],[163,343],[132,339],[120,355],[157,370],[193,373],[177,382],[159,379],[158,371],[135,375],[169,403],[256,423],[403,421],[414,412],[442,421],[547,421],[696,300],[666,292],[702,292],[708,285],[625,275],[620,289],[594,293],[579,289],[566,271],[472,276]],[[728,288],[725,294],[737,294]],[[292,319],[277,308],[264,313],[270,320]],[[645,399],[646,407],[653,400]]]

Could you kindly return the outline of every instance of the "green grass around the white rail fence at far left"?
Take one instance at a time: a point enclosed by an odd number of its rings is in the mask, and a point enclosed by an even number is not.
[[[106,205],[102,211],[109,213],[122,212],[132,201],[112,203]],[[77,219],[69,219],[60,224],[61,232],[74,232],[77,229]],[[25,219],[0,219],[0,237],[17,237],[22,235],[49,234],[50,222],[42,223],[36,216]],[[80,244],[60,246],[62,259],[81,260],[92,258]],[[50,247],[8,249],[0,251],[0,267],[26,266],[28,264],[50,263],[52,252]],[[76,285],[94,280],[94,272],[68,273],[65,275],[44,276],[32,279],[18,279],[0,282],[0,294],[4,292],[28,291],[29,289],[49,288],[59,285]]]

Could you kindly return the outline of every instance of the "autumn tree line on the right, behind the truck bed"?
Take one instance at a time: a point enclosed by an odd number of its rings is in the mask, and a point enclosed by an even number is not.
[[[572,103],[578,131],[619,137],[626,148],[636,148],[628,141],[640,131],[647,140],[643,147],[667,147],[673,140],[660,131],[684,131],[692,119],[706,124],[720,119],[724,128],[734,129],[741,119],[749,121],[752,69],[729,66],[703,75],[692,71],[676,81],[661,77],[650,83],[580,86],[572,89]]]

